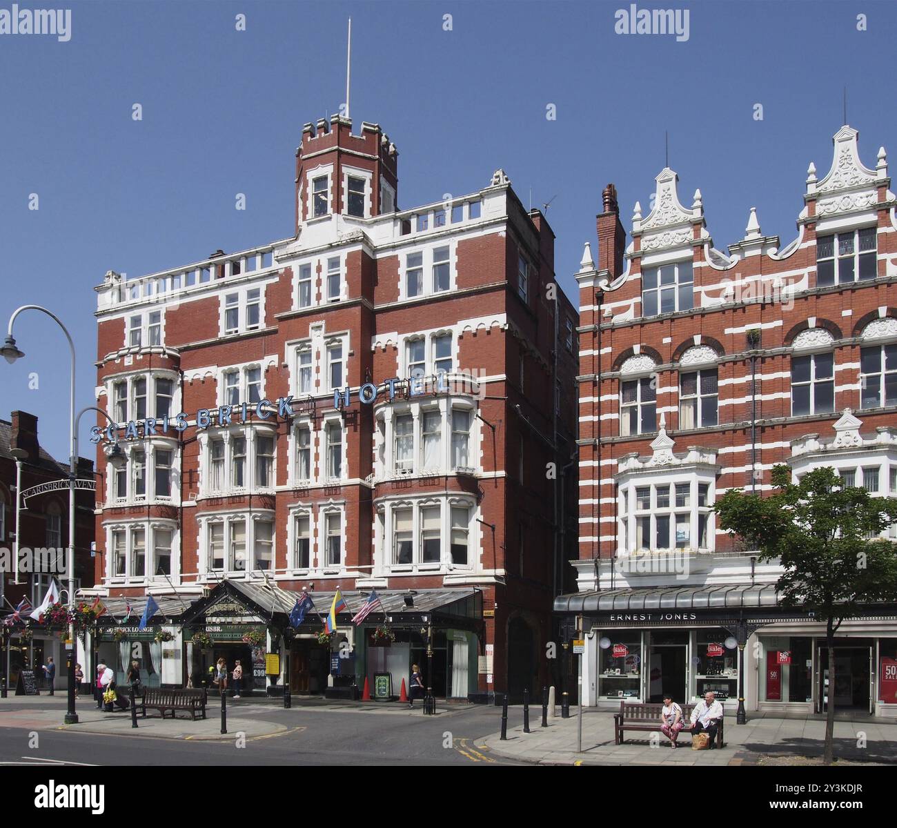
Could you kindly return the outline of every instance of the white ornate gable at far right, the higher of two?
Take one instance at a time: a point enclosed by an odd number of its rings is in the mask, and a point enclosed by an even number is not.
[[[826,216],[866,210],[878,201],[877,180],[887,176],[884,147],[878,153],[875,170],[869,170],[859,160],[858,131],[841,126],[832,138],[834,155],[832,169],[821,181],[816,181],[815,167],[810,165],[806,179],[807,193],[818,196],[816,214]]]

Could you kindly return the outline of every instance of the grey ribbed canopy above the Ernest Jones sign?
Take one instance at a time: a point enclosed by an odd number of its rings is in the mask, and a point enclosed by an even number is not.
[[[753,609],[775,606],[779,606],[779,594],[772,584],[598,589],[573,592],[554,599],[554,612],[577,615],[614,611]]]

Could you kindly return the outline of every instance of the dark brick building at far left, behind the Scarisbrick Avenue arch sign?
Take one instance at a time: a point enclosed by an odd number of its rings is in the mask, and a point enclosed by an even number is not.
[[[0,618],[7,618],[23,597],[33,607],[47,594],[50,579],[57,588],[68,588],[68,473],[67,462],[60,463],[41,448],[38,418],[25,411],[13,411],[9,421],[0,420],[0,549],[4,569],[0,571]],[[78,478],[92,481],[93,463],[79,459]],[[16,546],[16,485],[20,487],[19,545]],[[93,586],[93,492],[79,488],[75,492],[74,579],[75,588]],[[7,568],[18,549],[20,571]],[[37,554],[34,554],[37,551]],[[52,555],[50,554],[52,551]],[[67,595],[62,596],[67,600]],[[26,613],[25,617],[30,615]],[[56,684],[65,687],[65,657],[58,634],[43,632],[29,622],[32,638],[22,641],[22,625],[4,626],[3,675],[9,676],[8,688],[14,692],[19,670],[36,669],[43,682],[40,665],[52,657],[57,669]]]

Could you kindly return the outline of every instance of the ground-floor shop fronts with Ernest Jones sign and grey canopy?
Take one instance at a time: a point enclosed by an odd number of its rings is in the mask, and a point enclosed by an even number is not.
[[[829,686],[825,625],[779,606],[772,585],[611,589],[555,599],[584,634],[583,703],[696,702],[713,691],[728,712],[838,710],[897,718],[897,606],[868,606],[841,624]]]

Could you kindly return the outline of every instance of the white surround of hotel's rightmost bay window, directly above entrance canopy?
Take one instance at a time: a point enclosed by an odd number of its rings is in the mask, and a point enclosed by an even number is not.
[[[427,507],[440,507],[440,550],[439,562],[422,562],[421,560],[421,510]],[[467,563],[456,564],[451,560],[451,509],[457,507],[468,510],[467,523]],[[393,512],[395,510],[412,510],[412,563],[395,563],[395,538],[393,530]],[[421,495],[408,497],[394,495],[379,499],[375,503],[375,511],[379,519],[374,521],[374,571],[373,577],[386,577],[393,574],[429,574],[439,572],[469,572],[479,568],[480,533],[476,522],[479,509],[474,497],[458,494]]]

